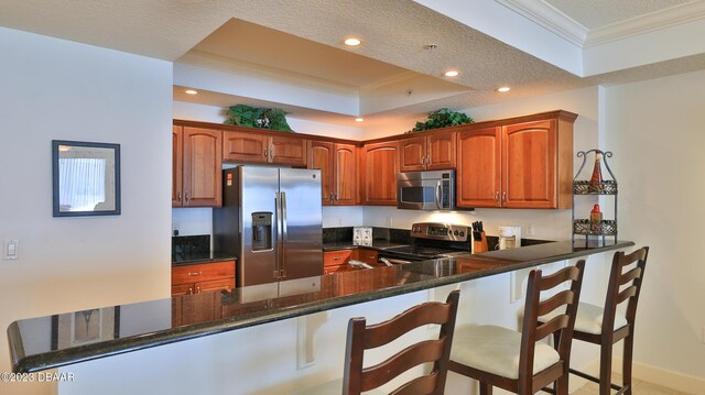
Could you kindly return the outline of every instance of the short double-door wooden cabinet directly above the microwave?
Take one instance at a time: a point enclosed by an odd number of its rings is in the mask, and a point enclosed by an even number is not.
[[[455,134],[449,130],[399,142],[400,171],[455,168]]]

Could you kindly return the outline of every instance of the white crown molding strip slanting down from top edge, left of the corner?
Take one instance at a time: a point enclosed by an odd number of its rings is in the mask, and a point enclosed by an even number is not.
[[[588,34],[587,28],[544,0],[495,1],[552,31],[572,44],[582,47],[585,43]]]

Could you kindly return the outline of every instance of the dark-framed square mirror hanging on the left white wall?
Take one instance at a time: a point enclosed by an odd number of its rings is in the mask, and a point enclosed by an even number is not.
[[[120,215],[120,144],[52,140],[54,217]]]

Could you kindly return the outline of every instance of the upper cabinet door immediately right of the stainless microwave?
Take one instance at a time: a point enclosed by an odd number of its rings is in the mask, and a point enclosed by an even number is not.
[[[460,132],[457,140],[457,206],[500,207],[501,128]]]

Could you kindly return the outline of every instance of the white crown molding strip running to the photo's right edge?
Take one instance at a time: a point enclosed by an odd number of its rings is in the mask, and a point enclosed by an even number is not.
[[[705,18],[705,1],[692,1],[593,29],[588,32],[583,47],[606,44],[703,18]]]

